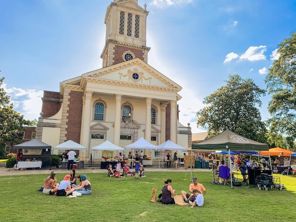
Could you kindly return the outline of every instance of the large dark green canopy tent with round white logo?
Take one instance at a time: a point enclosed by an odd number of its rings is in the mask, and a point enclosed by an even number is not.
[[[242,137],[230,130],[225,130],[222,133],[206,139],[202,142],[192,144],[192,149],[210,149],[210,150],[228,150],[228,167],[230,168],[230,149],[231,150],[268,150],[268,144],[263,144],[250,140],[248,138]],[[230,174],[231,176],[231,174]],[[232,178],[231,178],[231,188]]]

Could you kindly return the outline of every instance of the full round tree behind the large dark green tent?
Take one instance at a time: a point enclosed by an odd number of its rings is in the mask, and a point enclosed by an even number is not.
[[[260,89],[252,79],[243,79],[239,74],[229,75],[226,85],[204,99],[206,106],[197,112],[197,125],[208,129],[215,136],[229,129],[241,136],[266,142],[266,128],[261,121],[259,109]]]

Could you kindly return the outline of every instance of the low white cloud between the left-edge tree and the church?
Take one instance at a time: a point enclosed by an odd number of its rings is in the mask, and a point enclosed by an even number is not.
[[[35,89],[21,89],[21,88],[6,88],[6,84],[3,84],[3,88],[7,95],[10,96],[10,102],[13,103],[13,110],[24,115],[25,119],[38,119],[41,112],[41,97],[43,91],[36,91]]]

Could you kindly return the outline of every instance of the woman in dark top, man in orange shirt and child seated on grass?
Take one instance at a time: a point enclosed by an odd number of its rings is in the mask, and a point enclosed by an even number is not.
[[[201,207],[204,204],[204,195],[206,194],[207,190],[202,185],[197,183],[197,178],[192,178],[192,184],[189,185],[189,193],[182,190],[181,194],[186,203],[191,205],[191,208],[194,206]],[[159,202],[163,204],[175,204],[174,195],[176,195],[176,190],[172,187],[172,180],[167,179],[165,185],[162,187],[161,197]]]

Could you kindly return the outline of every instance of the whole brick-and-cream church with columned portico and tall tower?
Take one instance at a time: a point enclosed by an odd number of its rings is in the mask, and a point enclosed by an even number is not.
[[[191,147],[191,128],[178,120],[182,87],[148,65],[147,16],[138,0],[111,2],[102,68],[60,82],[59,92],[44,91],[36,139],[52,147],[73,140],[88,157],[106,140],[123,148],[141,137]],[[100,151],[95,155],[102,158]]]

